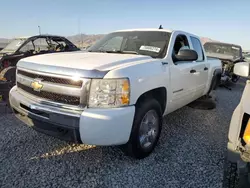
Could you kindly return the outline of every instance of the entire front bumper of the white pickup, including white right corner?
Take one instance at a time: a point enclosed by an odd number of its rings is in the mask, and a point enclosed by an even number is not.
[[[111,109],[66,110],[35,102],[14,86],[9,94],[16,116],[37,131],[63,140],[93,145],[128,142],[134,106]]]

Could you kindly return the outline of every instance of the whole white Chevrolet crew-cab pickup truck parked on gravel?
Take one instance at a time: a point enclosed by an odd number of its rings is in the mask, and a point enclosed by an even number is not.
[[[135,29],[110,33],[88,52],[24,58],[16,74],[9,100],[25,124],[68,141],[122,145],[141,159],[164,115],[215,88],[221,62],[195,35]]]

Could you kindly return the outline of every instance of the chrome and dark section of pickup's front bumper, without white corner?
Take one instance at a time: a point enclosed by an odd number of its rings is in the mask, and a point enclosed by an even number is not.
[[[81,112],[59,111],[56,108],[36,103],[23,96],[14,86],[9,94],[10,106],[16,117],[35,130],[60,138],[81,143],[79,121]]]

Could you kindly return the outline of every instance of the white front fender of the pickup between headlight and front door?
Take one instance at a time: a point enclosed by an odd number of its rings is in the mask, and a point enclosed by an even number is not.
[[[123,78],[129,75],[130,81],[130,105],[135,105],[138,99],[145,93],[165,88],[167,102],[171,98],[170,66],[163,65],[162,61],[150,59],[134,62],[133,64],[119,67],[109,71],[104,78]],[[139,70],[139,71],[138,71]],[[168,88],[168,89],[167,89]]]

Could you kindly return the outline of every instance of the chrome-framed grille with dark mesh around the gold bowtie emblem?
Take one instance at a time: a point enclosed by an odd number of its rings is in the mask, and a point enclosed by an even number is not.
[[[42,87],[35,89],[35,82],[39,82]],[[69,76],[53,75],[17,69],[16,84],[20,91],[26,92],[34,100],[45,99],[51,105],[63,104],[74,105],[83,108],[87,104],[87,94],[90,79],[72,80]],[[57,104],[56,104],[57,103]]]

